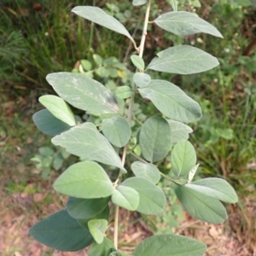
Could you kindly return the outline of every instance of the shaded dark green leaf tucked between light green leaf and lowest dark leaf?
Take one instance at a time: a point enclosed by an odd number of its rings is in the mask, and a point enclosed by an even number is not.
[[[69,197],[67,212],[73,218],[92,218],[107,207],[109,200],[109,197],[93,199]]]

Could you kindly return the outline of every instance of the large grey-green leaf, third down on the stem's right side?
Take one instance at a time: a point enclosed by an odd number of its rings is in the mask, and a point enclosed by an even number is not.
[[[184,123],[201,119],[200,105],[175,84],[156,79],[147,87],[138,90],[143,98],[148,98],[170,119]]]

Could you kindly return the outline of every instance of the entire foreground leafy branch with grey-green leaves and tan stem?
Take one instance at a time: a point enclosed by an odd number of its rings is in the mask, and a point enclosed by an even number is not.
[[[33,120],[44,133],[54,131],[49,134],[54,136],[53,144],[80,158],[54,183],[56,191],[69,196],[67,210],[56,212],[29,231],[49,247],[77,251],[92,244],[91,256],[99,255],[98,252],[127,255],[118,250],[119,207],[150,215],[164,212],[166,195],[158,186],[160,176],[169,182],[168,187],[174,190],[187,212],[209,223],[220,224],[227,218],[220,201],[237,201],[235,190],[223,179],[209,177],[193,181],[197,170],[196,155],[195,148],[187,141],[191,131],[185,124],[201,119],[201,107],[177,85],[150,76],[153,71],[201,73],[218,66],[218,59],[201,49],[177,45],[158,52],[146,67],[143,49],[150,0],[133,1],[135,6],[144,4],[139,47],[125,26],[102,9],[91,6],[73,9],[77,15],[131,40],[137,51],[137,55],[131,56],[131,62],[137,67],[131,77],[131,86],[125,84],[121,91],[109,90],[83,73],[50,73],[46,78],[60,97],[41,97],[40,102],[46,109],[44,113],[42,110],[35,113]],[[173,14],[177,14],[175,19]],[[167,31],[170,26],[175,28],[171,32],[177,36],[207,31],[222,37],[207,21],[183,11],[160,15],[152,22]],[[99,56],[95,56],[95,61],[98,66],[102,65]],[[83,61],[81,65],[89,70],[89,63]],[[159,110],[148,119],[142,117],[143,121],[137,119],[137,109],[143,108],[140,96],[145,101],[150,100]],[[138,107],[135,101],[139,102]],[[85,111],[86,115],[95,116],[97,121],[76,122],[67,103]],[[163,160],[171,164],[165,173],[161,170]],[[115,212],[113,242],[105,237],[111,225],[108,223],[110,201]],[[135,248],[133,255],[202,255],[205,251],[206,245],[201,241],[166,234],[148,237]]]

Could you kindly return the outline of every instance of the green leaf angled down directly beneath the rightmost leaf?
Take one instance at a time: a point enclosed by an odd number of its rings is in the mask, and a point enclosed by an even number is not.
[[[177,183],[173,183],[173,188],[178,200],[193,217],[213,224],[221,224],[227,218],[224,206],[217,199]]]

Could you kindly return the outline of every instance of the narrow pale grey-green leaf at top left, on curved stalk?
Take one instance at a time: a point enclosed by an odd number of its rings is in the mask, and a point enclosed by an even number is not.
[[[131,39],[134,43],[130,33],[126,30],[125,26],[110,15],[107,15],[102,9],[93,6],[77,6],[72,9],[72,12],[76,15],[83,17],[86,20],[90,20],[96,24],[107,27],[114,32],[118,32]]]

